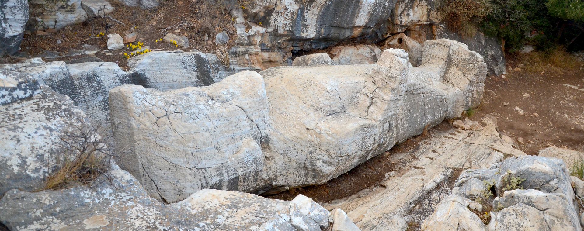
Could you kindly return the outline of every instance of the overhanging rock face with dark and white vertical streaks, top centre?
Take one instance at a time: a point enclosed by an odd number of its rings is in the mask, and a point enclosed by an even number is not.
[[[246,11],[250,21],[261,22],[267,29],[269,40],[293,41],[302,49],[373,33],[389,18],[394,5],[394,0],[263,0],[253,2]]]

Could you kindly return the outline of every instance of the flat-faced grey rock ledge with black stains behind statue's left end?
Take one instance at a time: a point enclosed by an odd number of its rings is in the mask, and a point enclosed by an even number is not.
[[[33,76],[40,84],[48,85],[56,92],[71,97],[85,111],[90,121],[103,127],[109,127],[107,99],[109,90],[116,86],[134,84],[169,90],[210,85],[232,74],[215,55],[198,51],[152,51],[132,58],[128,65],[134,68],[124,71],[113,62],[66,64],[62,61],[44,62],[40,58],[34,58],[18,64],[0,64],[0,72]],[[19,86],[23,86],[22,84]],[[15,93],[21,92],[16,90]]]

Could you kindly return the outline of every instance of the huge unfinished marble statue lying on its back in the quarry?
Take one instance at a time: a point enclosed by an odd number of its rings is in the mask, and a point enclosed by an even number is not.
[[[486,65],[465,44],[426,41],[422,65],[276,67],[169,92],[110,90],[119,160],[159,200],[203,188],[263,192],[322,184],[482,98]]]

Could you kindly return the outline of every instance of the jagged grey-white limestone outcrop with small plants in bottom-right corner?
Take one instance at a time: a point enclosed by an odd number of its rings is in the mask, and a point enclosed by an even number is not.
[[[477,229],[481,226],[475,225],[472,230],[582,230],[571,183],[562,160],[520,156],[494,164],[490,169],[464,171],[454,184],[453,194],[481,201],[484,209],[491,207],[485,211],[478,209],[490,215],[486,228]],[[477,199],[484,197],[484,191],[495,192],[492,202],[488,202],[490,198]],[[449,203],[444,200],[438,207]],[[467,206],[460,210],[468,214],[467,219],[478,219]],[[445,217],[439,212],[436,210],[426,218],[422,230],[437,230],[441,224],[458,227],[444,230],[469,230],[457,225],[460,218]]]

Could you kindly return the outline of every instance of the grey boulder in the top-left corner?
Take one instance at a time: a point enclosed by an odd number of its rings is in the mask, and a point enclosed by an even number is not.
[[[20,42],[29,20],[29,3],[26,0],[7,0],[0,3],[0,56],[20,50]]]

